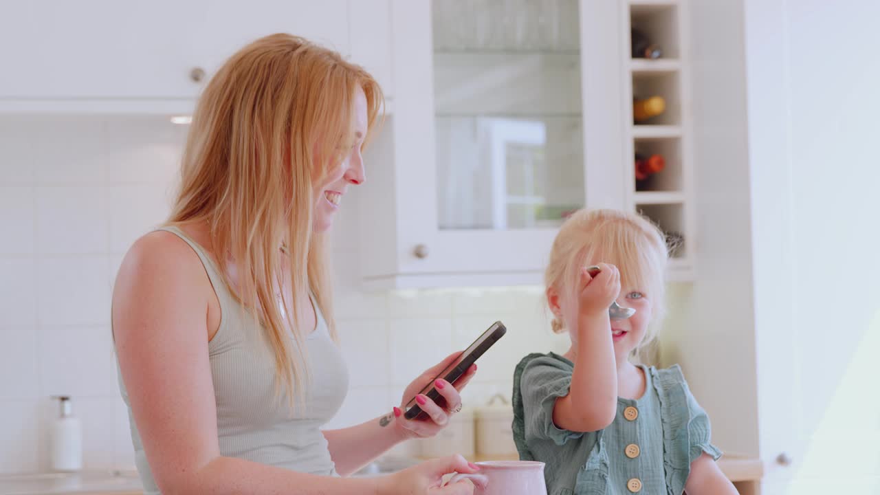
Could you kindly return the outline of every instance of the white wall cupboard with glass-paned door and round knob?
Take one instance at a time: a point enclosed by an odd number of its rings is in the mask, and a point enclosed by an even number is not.
[[[539,283],[565,211],[627,204],[619,5],[392,0],[391,13],[394,113],[367,160],[384,192],[361,205],[367,286]]]

